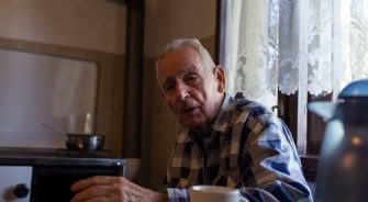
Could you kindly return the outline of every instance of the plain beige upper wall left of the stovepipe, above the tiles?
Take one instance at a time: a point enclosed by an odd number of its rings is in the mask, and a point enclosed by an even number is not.
[[[0,0],[0,36],[124,54],[125,15],[108,0]]]

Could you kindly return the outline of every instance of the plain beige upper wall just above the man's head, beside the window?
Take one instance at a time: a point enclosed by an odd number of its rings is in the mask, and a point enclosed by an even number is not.
[[[145,56],[153,58],[176,37],[207,41],[213,50],[216,0],[147,0]]]

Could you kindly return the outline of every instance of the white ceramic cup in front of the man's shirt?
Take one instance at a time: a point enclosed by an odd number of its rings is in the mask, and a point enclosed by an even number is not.
[[[220,186],[193,186],[189,195],[190,202],[248,202],[238,190]]]

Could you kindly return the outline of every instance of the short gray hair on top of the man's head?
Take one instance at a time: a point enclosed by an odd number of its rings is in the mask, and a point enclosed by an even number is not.
[[[203,45],[200,43],[199,40],[197,38],[177,38],[168,43],[165,48],[163,54],[157,58],[156,61],[156,70],[159,65],[159,61],[169,53],[175,52],[180,48],[185,47],[191,47],[196,49],[199,54],[199,57],[201,59],[201,63],[205,66],[205,68],[212,67],[214,68],[215,65],[211,58],[211,55],[209,52],[203,47]]]

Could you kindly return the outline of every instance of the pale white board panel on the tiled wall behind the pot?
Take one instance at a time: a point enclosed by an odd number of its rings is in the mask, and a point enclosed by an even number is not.
[[[94,114],[93,61],[0,49],[0,146],[65,147],[73,114]]]

